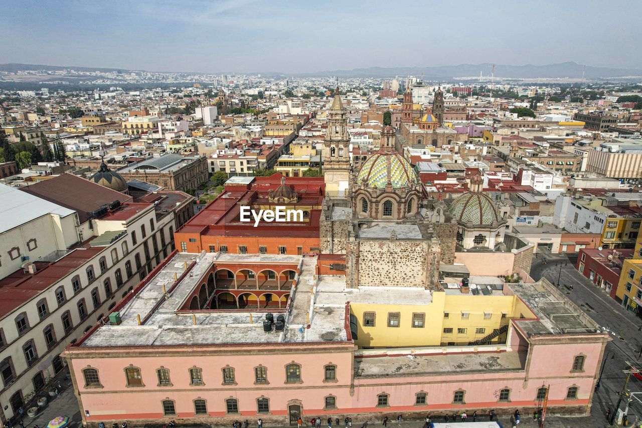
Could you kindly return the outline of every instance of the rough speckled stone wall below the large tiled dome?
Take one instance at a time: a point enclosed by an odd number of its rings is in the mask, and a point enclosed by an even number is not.
[[[359,240],[358,285],[426,287],[428,243],[420,240]]]

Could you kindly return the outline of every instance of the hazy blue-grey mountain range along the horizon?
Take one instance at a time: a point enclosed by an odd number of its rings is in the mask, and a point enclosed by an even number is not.
[[[119,68],[99,68],[99,67],[76,67],[76,66],[45,66],[40,64],[0,64],[0,71],[17,73],[18,71],[60,71],[64,69],[74,69],[76,71],[101,71],[119,73],[128,73],[130,70]],[[459,64],[458,66],[435,66],[435,67],[368,67],[355,68],[351,70],[328,70],[318,71],[315,73],[294,73],[294,76],[300,77],[325,77],[337,76],[343,78],[351,77],[373,77],[386,78],[394,76],[423,76],[424,80],[452,80],[458,77],[479,76],[480,72],[485,78],[490,76],[492,64]],[[138,70],[140,71],[140,70]],[[577,64],[577,62],[562,62],[560,64],[547,64],[544,66],[535,66],[526,64],[525,66],[507,66],[497,64],[495,66],[495,76],[497,78],[584,78],[587,80],[596,80],[604,78],[642,76],[642,69],[625,69],[611,67],[591,67]],[[162,72],[159,72],[162,73]],[[205,74],[205,73],[194,73]],[[229,73],[226,73],[229,74]],[[261,73],[270,76],[290,76],[288,73]]]

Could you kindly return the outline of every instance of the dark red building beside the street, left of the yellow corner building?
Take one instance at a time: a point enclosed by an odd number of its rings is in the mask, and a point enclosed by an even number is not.
[[[633,249],[582,248],[575,269],[615,299],[620,282],[622,261],[632,256]]]

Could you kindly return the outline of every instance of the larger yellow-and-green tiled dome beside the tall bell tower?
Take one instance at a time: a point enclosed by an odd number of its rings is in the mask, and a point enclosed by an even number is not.
[[[388,170],[390,170],[390,177],[388,177]],[[390,152],[374,154],[363,163],[357,176],[357,183],[361,184],[363,180],[366,181],[367,187],[383,189],[390,180],[393,188],[401,188],[414,186],[417,183],[417,176],[403,156]]]

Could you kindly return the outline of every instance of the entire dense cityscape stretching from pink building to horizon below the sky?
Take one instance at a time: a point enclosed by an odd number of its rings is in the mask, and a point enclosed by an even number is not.
[[[642,427],[642,71],[379,65],[0,64],[0,428]]]

